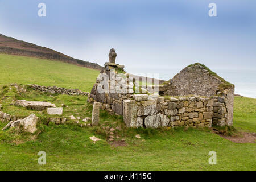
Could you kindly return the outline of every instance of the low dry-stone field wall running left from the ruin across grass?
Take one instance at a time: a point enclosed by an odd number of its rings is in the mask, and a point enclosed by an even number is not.
[[[40,85],[28,85],[34,90],[38,90],[40,92],[48,92],[52,94],[66,94],[66,95],[83,95],[87,96],[89,92],[82,92],[79,89],[65,89],[65,88],[60,88],[57,86],[40,86]]]

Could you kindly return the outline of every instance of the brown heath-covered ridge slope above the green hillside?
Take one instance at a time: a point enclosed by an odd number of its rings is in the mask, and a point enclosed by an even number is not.
[[[65,63],[80,65],[82,67],[102,69],[102,67],[96,63],[74,59],[73,57],[69,57],[63,53],[53,51],[52,49],[37,46],[35,44],[7,37],[2,34],[0,34],[0,53],[36,57],[41,59],[59,60]]]

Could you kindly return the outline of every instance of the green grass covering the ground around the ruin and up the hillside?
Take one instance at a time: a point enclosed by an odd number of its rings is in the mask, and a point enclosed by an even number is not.
[[[19,60],[23,64],[19,64]],[[35,63],[34,63],[35,61]],[[29,63],[29,68],[27,64]],[[55,65],[56,64],[56,65]],[[16,67],[19,68],[16,68]],[[48,68],[51,67],[51,68]],[[59,68],[59,70],[53,68]],[[56,85],[89,91],[98,71],[76,67],[55,61],[19,56],[0,55],[1,85],[12,82],[20,84]],[[43,69],[41,71],[40,69]],[[48,70],[49,69],[49,70]],[[65,71],[61,71],[64,69]],[[37,70],[37,71],[35,71]],[[15,74],[13,74],[15,72]],[[28,73],[27,73],[28,72]],[[56,77],[56,78],[55,78]],[[75,81],[69,83],[72,79]],[[86,78],[84,78],[86,77]],[[3,78],[3,80],[2,80]],[[62,80],[59,80],[61,78]],[[80,84],[85,82],[84,85]],[[9,105],[15,96],[9,86],[1,88],[0,94],[8,94],[0,104],[3,111],[12,114],[31,113],[30,110]],[[85,117],[92,114],[92,105],[85,96],[62,96],[28,90],[20,98],[46,100],[68,105],[67,115]],[[241,131],[256,132],[256,100],[235,97],[234,127]],[[46,113],[36,113],[44,117]],[[121,117],[101,111],[100,123],[104,126],[120,127],[114,135],[125,139],[125,146],[115,147],[108,143],[108,135],[101,127],[81,127],[80,123],[38,126],[36,137],[17,134],[15,130],[0,131],[0,170],[255,170],[256,144],[233,143],[212,133],[209,129],[127,129]],[[2,129],[6,123],[0,122]],[[135,138],[136,134],[141,139]],[[95,144],[89,139],[101,138]],[[38,152],[45,151],[47,164],[38,164]],[[217,164],[209,165],[209,151],[217,152]]]

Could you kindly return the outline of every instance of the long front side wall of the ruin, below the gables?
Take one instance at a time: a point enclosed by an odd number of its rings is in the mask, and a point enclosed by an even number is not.
[[[128,127],[232,125],[224,96],[152,97],[135,94],[123,101],[123,121]]]

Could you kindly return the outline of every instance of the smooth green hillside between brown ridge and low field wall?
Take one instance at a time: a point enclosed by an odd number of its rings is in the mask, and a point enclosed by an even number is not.
[[[0,85],[17,82],[90,92],[99,73],[95,69],[60,61],[0,54]]]

